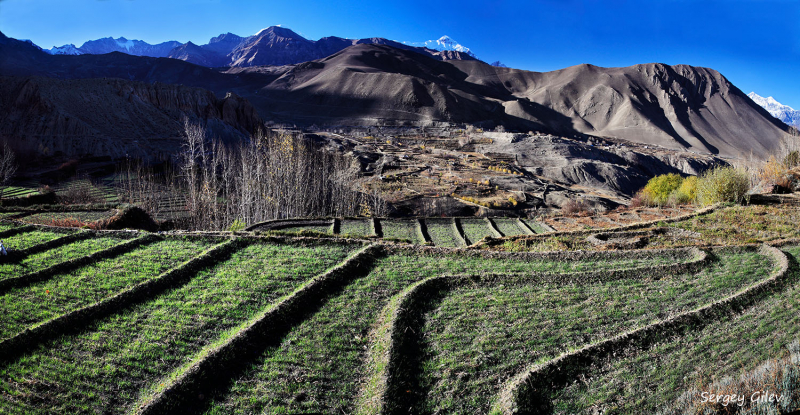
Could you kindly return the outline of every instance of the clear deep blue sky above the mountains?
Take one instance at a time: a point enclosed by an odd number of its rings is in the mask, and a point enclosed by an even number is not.
[[[796,0],[0,0],[0,31],[45,48],[107,36],[204,44],[271,25],[312,40],[449,35],[487,62],[534,71],[581,63],[705,66],[745,93],[800,109]]]

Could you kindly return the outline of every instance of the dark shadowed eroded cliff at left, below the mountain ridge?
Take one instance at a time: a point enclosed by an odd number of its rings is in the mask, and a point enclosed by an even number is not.
[[[261,120],[234,94],[120,79],[0,78],[0,136],[17,148],[64,157],[159,159],[180,147],[183,118],[224,138],[252,134]]]

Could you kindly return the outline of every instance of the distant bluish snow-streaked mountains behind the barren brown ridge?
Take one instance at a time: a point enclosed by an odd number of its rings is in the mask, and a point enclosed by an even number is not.
[[[169,57],[216,68],[292,65],[321,59],[359,44],[389,45],[426,54],[438,60],[475,59],[469,48],[447,36],[420,45],[407,45],[384,38],[345,39],[336,36],[313,41],[280,26],[271,26],[247,37],[224,33],[212,38],[205,45],[192,42],[181,44],[177,41],[151,45],[141,40],[107,37],[90,40],[80,47],[69,44],[43,50],[52,55],[101,55],[122,52],[135,56]]]

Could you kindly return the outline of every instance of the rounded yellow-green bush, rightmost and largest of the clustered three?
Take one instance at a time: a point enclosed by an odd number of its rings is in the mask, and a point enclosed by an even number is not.
[[[748,198],[750,177],[733,167],[715,167],[697,180],[697,200],[703,205],[720,202],[742,203]]]

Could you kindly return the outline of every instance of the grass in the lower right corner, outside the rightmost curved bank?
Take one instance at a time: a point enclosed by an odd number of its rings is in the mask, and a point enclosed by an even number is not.
[[[787,248],[800,259],[800,248]],[[761,363],[782,357],[800,339],[800,275],[783,291],[744,313],[712,321],[702,330],[664,339],[648,350],[629,350],[586,374],[554,396],[557,413],[582,412],[600,405],[607,413],[655,413],[667,410],[691,389],[707,390],[712,381],[738,377]],[[795,389],[796,391],[796,389]],[[753,391],[731,391],[745,393]],[[688,397],[698,403],[698,395]]]

